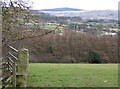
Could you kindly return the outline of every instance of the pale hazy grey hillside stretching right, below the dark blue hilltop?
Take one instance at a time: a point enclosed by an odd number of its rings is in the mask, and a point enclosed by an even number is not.
[[[81,17],[83,19],[118,19],[117,10],[92,10],[92,11],[42,11],[58,17]]]

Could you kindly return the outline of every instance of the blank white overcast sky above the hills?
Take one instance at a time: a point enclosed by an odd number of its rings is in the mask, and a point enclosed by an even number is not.
[[[84,10],[117,10],[120,0],[30,0],[33,9],[70,7]]]

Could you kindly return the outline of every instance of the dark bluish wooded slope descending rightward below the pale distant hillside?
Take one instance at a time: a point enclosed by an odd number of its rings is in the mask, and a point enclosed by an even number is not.
[[[57,17],[37,10],[31,10],[31,14],[33,15],[33,17],[37,19],[38,22],[68,24],[68,20],[74,22],[79,22],[82,20],[81,17],[66,17],[66,16]]]

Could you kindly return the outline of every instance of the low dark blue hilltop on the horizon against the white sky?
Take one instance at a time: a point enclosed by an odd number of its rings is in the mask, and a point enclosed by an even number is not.
[[[63,7],[63,8],[53,8],[53,9],[42,9],[40,11],[83,11],[82,9],[77,9],[77,8],[68,8],[68,7]]]

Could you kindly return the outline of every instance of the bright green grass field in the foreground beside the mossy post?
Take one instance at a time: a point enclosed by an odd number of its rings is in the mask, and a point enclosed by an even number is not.
[[[28,86],[117,87],[117,64],[30,64]]]

